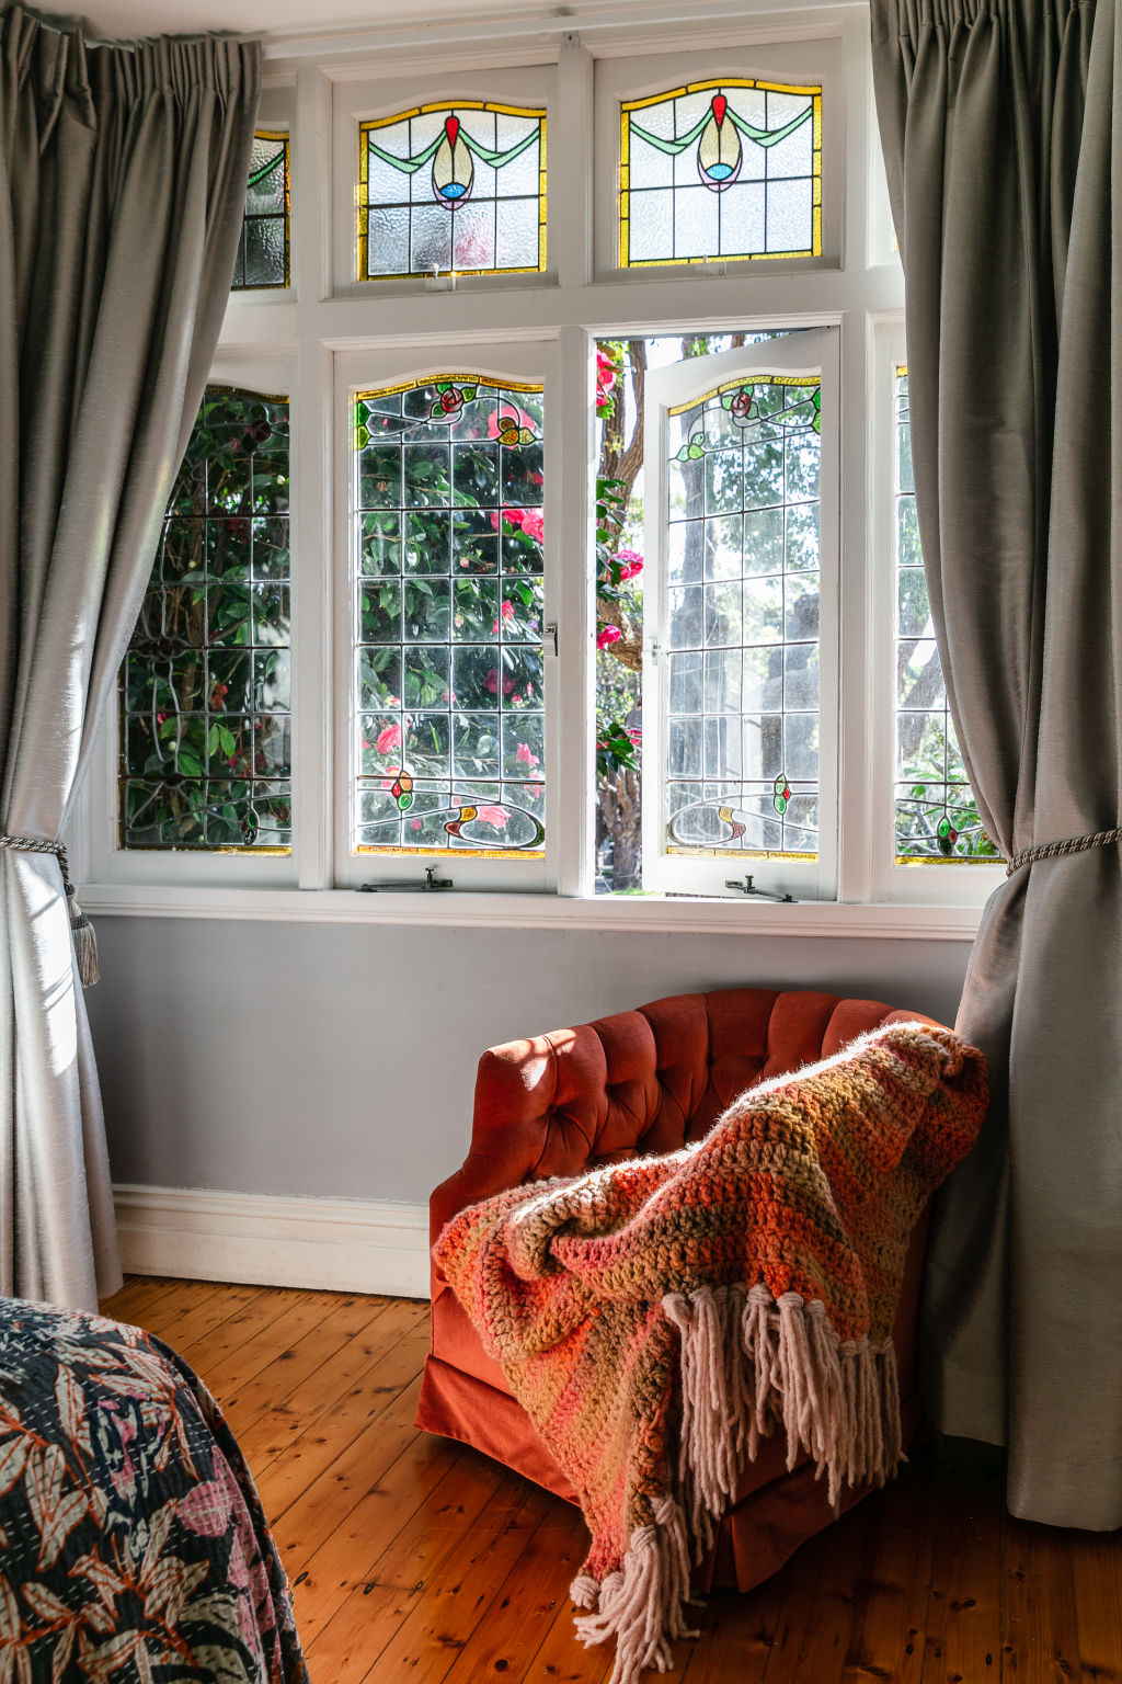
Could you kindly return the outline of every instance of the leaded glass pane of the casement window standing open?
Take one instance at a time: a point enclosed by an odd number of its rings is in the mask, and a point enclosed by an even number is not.
[[[668,850],[812,859],[819,382],[720,387],[668,450]]]

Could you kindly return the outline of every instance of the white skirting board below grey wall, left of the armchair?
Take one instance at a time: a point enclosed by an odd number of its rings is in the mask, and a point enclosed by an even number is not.
[[[429,1211],[365,1199],[116,1186],[128,1275],[429,1297]]]

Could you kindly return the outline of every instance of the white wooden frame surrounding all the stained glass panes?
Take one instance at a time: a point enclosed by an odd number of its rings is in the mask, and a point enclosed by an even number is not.
[[[878,780],[890,800],[892,754],[878,748],[888,709],[892,640],[876,647],[878,623],[892,613],[890,551],[883,541],[883,431],[878,416],[876,335],[900,313],[900,264],[886,249],[883,170],[875,145],[868,8],[865,3],[812,5],[765,13],[767,0],[735,8],[727,0],[696,0],[688,20],[669,22],[651,7],[604,24],[580,19],[543,27],[538,17],[479,24],[451,19],[426,27],[426,40],[405,30],[315,44],[293,37],[266,42],[266,84],[291,101],[291,276],[288,291],[234,293],[212,379],[239,377],[262,389],[288,389],[293,414],[293,802],[289,857],[121,850],[116,830],[116,709],[106,719],[96,765],[71,842],[76,877],[91,909],[167,916],[264,919],[340,919],[595,930],[707,930],[772,935],[876,935],[962,940],[977,925],[982,867],[898,869],[905,882],[885,881],[870,808]],[[759,12],[760,15],[754,15]],[[587,25],[587,27],[585,27]],[[661,57],[659,57],[661,56]],[[594,261],[594,182],[612,192],[617,157],[617,99],[676,86],[690,76],[775,74],[821,81],[824,125],[833,147],[824,175],[823,258],[728,261],[666,269],[604,268]],[[663,66],[673,66],[668,76]],[[695,64],[698,66],[695,69]],[[703,66],[703,67],[701,67]],[[831,66],[833,76],[831,76]],[[520,69],[521,67],[521,69]],[[525,67],[530,67],[528,72]],[[355,111],[404,109],[415,91],[424,103],[510,94],[506,76],[520,69],[518,103],[548,111],[548,263],[528,276],[466,278],[453,290],[426,283],[353,280],[357,170]],[[555,86],[545,98],[530,76]],[[604,125],[606,89],[616,99],[611,152],[595,141],[597,83]],[[385,91],[392,84],[392,93]],[[370,109],[370,89],[385,93]],[[363,91],[365,89],[365,91]],[[367,104],[363,104],[367,101]],[[262,108],[269,120],[279,113]],[[340,123],[348,125],[347,179],[335,170]],[[564,172],[558,162],[564,160]],[[836,172],[831,175],[829,172]],[[348,195],[352,195],[348,199]],[[880,209],[878,209],[880,205]],[[601,209],[602,219],[602,209]],[[833,219],[833,221],[831,221]],[[834,227],[834,232],[831,232]],[[601,244],[604,234],[601,229]],[[609,236],[614,264],[616,229]],[[345,271],[336,271],[345,251]],[[722,273],[723,271],[723,273]],[[838,872],[834,903],[772,906],[737,899],[644,899],[594,896],[594,667],[595,618],[590,579],[595,428],[592,354],[597,337],[632,333],[759,332],[765,328],[839,328],[841,338],[841,711]],[[347,455],[340,434],[335,364],[365,355],[402,355],[412,367],[434,367],[434,347],[454,347],[453,367],[503,367],[488,347],[548,342],[555,359],[550,493],[558,498],[547,525],[557,569],[550,618],[560,628],[555,684],[555,751],[548,766],[557,857],[543,893],[442,896],[368,896],[347,886],[353,876],[380,876],[377,855],[352,874],[338,861],[347,835],[348,785],[340,776],[336,729],[341,677],[350,643],[340,645],[340,598],[348,601],[348,547],[340,544],[338,475]],[[251,367],[283,359],[288,382],[251,379]],[[888,362],[886,362],[888,367]],[[241,370],[241,374],[237,374]],[[513,370],[511,370],[513,372]],[[362,384],[375,386],[377,379]],[[883,391],[890,397],[890,376]],[[881,534],[878,537],[878,532]],[[880,709],[880,712],[878,712]],[[881,733],[883,734],[883,733]],[[553,817],[555,815],[555,817]],[[348,862],[350,864],[350,862]],[[922,872],[922,876],[920,876]],[[937,889],[935,884],[940,884]],[[934,904],[952,886],[954,906]],[[315,891],[315,893],[310,893]],[[893,904],[907,899],[908,904]]]

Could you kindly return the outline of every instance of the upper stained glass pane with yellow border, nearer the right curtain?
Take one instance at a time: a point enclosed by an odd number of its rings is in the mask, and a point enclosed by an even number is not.
[[[823,249],[823,91],[690,83],[621,106],[619,263]]]

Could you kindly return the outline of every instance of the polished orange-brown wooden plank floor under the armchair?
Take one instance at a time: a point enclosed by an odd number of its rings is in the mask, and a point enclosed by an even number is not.
[[[427,1305],[136,1278],[104,1308],[175,1346],[222,1403],[313,1684],[604,1684],[612,1657],[572,1630],[577,1512],[412,1426]],[[1122,1534],[1013,1521],[992,1453],[929,1445],[696,1623],[675,1684],[1122,1684]]]

